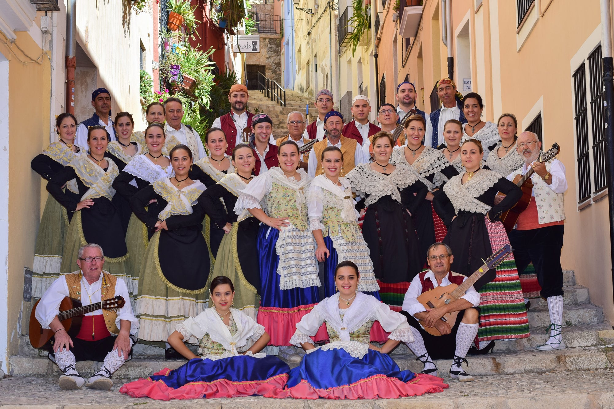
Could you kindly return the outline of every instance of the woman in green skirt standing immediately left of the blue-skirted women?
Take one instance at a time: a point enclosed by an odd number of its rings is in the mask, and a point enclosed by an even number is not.
[[[211,217],[211,224],[226,232],[217,251],[212,277],[227,276],[236,283],[235,308],[256,319],[260,297],[260,268],[258,268],[258,219],[249,215],[238,220],[234,212],[239,190],[252,181],[254,151],[247,144],[238,144],[232,150],[234,173],[205,190],[198,206]],[[223,202],[220,201],[222,198]],[[228,211],[227,211],[228,209]]]

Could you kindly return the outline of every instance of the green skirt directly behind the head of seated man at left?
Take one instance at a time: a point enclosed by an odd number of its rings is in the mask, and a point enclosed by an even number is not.
[[[77,255],[79,247],[85,246],[85,236],[83,234],[83,226],[81,224],[81,211],[76,211],[72,216],[71,224],[68,225],[68,233],[66,233],[66,241],[64,242],[64,252],[62,254],[62,264],[60,267],[61,274],[69,274],[74,271],[79,271],[77,265]],[[128,271],[128,253],[122,257],[104,257],[104,271],[109,271],[117,278],[123,279],[128,287],[128,292],[132,292],[132,282]]]

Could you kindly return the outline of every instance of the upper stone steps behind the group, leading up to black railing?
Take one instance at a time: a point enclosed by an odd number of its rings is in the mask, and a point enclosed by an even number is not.
[[[306,114],[306,104],[309,104],[309,119],[311,123],[316,119],[316,107],[314,101],[301,95],[297,91],[286,90],[286,106],[279,106],[279,103],[271,101],[265,96],[264,92],[250,91],[249,102],[247,103],[250,112],[264,112],[273,120],[273,135],[275,138],[281,138],[288,134],[287,119],[288,114],[292,111],[303,112]]]

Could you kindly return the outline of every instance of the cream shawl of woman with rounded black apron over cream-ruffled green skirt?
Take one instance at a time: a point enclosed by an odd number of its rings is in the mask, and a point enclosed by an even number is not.
[[[198,203],[198,197],[204,192],[204,184],[195,181],[193,184],[177,189],[169,177],[153,183],[153,190],[168,202],[158,214],[158,219],[165,220],[170,216],[192,214],[192,206]]]

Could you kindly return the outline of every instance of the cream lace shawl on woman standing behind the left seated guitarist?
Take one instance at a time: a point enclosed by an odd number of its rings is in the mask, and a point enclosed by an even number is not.
[[[81,179],[83,184],[90,188],[81,197],[81,200],[97,197],[106,197],[112,200],[115,195],[115,189],[111,185],[119,174],[119,169],[111,159],[107,159],[107,163],[109,167],[106,172],[103,168],[92,162],[87,155],[77,155],[68,164],[68,166],[75,169],[77,177]]]

